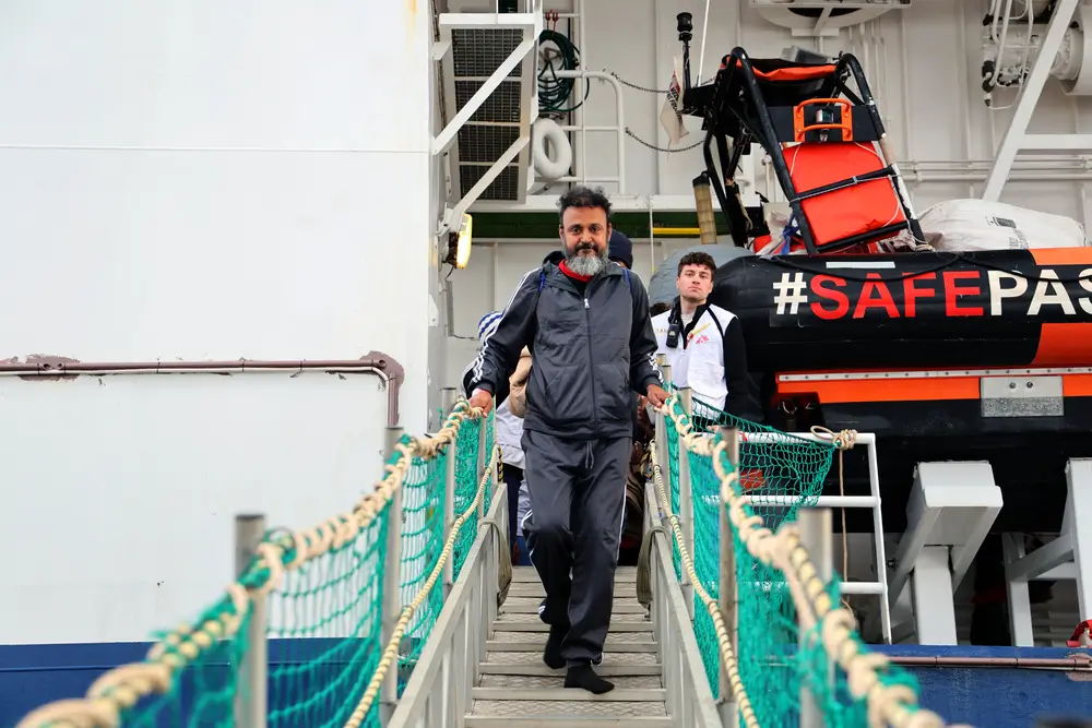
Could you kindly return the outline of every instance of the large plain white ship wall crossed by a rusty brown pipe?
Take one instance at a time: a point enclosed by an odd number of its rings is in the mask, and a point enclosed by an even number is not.
[[[424,431],[429,38],[416,2],[4,2],[0,358],[382,351]],[[195,616],[235,513],[371,489],[385,404],[356,374],[0,377],[0,645]]]

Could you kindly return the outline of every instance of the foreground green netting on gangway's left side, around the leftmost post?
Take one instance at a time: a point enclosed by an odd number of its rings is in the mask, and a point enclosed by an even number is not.
[[[388,510],[341,548],[288,571],[270,594],[270,726],[343,726],[364,694],[382,651],[379,605]],[[277,538],[272,534],[268,540]],[[259,585],[268,578],[268,570],[256,569],[242,582]],[[233,611],[226,598],[199,622],[225,611]],[[236,725],[236,693],[248,687],[237,680],[233,666],[241,663],[247,648],[246,629],[244,623],[233,639],[178,672],[166,694],[138,703],[122,725]],[[379,725],[375,708],[364,725]]]

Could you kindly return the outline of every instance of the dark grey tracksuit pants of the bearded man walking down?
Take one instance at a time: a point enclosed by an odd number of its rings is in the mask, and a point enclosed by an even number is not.
[[[531,496],[524,530],[546,590],[542,618],[569,625],[561,656],[586,664],[602,656],[610,626],[632,438],[524,430],[522,442]]]

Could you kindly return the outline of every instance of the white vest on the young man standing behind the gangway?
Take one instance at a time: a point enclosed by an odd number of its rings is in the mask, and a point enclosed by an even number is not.
[[[715,321],[711,313],[716,317]],[[721,332],[728,327],[735,314],[719,306],[710,306],[690,330],[686,348],[682,348],[681,336],[677,347],[667,346],[667,320],[670,314],[668,310],[653,317],[652,329],[656,332],[656,353],[666,354],[667,363],[672,367],[672,383],[679,387],[689,386],[695,398],[723,409],[728,387],[724,380],[724,339]]]

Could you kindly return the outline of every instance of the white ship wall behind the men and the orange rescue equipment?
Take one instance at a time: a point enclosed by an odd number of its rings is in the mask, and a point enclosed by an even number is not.
[[[483,10],[485,0],[464,0],[459,10]],[[785,28],[773,25],[739,2],[711,2],[705,50],[702,53],[702,0],[583,0],[585,32],[589,40],[573,38],[580,48],[584,68],[614,72],[630,85],[624,85],[625,127],[640,140],[667,147],[666,133],[660,124],[663,94],[644,88],[666,88],[672,76],[673,57],[681,53],[676,31],[676,15],[693,15],[691,72],[697,80],[704,60],[703,77],[710,79],[723,56],[741,45],[752,58],[776,58],[783,48],[798,45],[816,49],[810,38],[793,38]],[[548,0],[547,9],[561,13],[573,10],[572,0]],[[982,0],[914,0],[905,11],[892,11],[864,28],[842,31],[838,38],[822,39],[821,50],[834,55],[853,52],[862,61],[866,76],[892,138],[913,203],[918,213],[934,203],[957,198],[982,195],[983,182],[994,150],[1008,128],[1011,109],[988,111],[981,88],[982,19],[988,3]],[[567,32],[567,20],[558,23]],[[571,21],[577,26],[577,21]],[[1014,23],[1016,27],[1019,23]],[[863,37],[870,39],[863,40]],[[996,106],[1009,106],[1014,91],[1000,89]],[[586,126],[617,123],[615,95],[610,85],[593,81],[584,103]],[[685,147],[702,138],[700,120],[686,117],[690,134],[676,147]],[[1057,81],[1047,82],[1030,132],[1087,133],[1092,131],[1092,103],[1088,98],[1066,96]],[[703,169],[701,148],[666,154],[655,152],[633,136],[625,140],[626,194],[618,186],[602,183],[616,200],[645,195],[685,195],[692,200],[691,180]],[[612,177],[618,172],[613,132],[589,133],[584,148],[587,177]],[[574,157],[580,156],[579,140]],[[1055,156],[1054,159],[1065,159]],[[1070,157],[1071,159],[1072,157]],[[915,163],[929,164],[928,171]],[[1066,172],[1072,175],[1072,172]],[[956,180],[956,181],[952,181]],[[761,176],[760,176],[760,182]],[[1087,224],[1092,215],[1088,181],[1009,182],[1002,202],[1042,212],[1068,215]],[[560,186],[551,192],[554,198]],[[760,188],[761,190],[761,188]],[[638,200],[640,204],[640,200]],[[471,212],[498,210],[502,203],[478,204]],[[714,203],[715,204],[715,203]],[[697,222],[693,223],[697,225]],[[473,336],[478,318],[488,307],[502,307],[519,275],[536,265],[553,249],[548,243],[475,240],[470,266],[455,272],[455,333]],[[666,249],[678,244],[665,240]],[[636,241],[636,271],[648,285],[652,261],[663,260],[658,248],[653,253],[643,241]],[[496,263],[495,263],[496,261]],[[450,339],[453,358],[448,381],[458,378],[464,356],[474,343]],[[459,355],[454,356],[458,351]],[[455,360],[460,359],[460,360]]]

